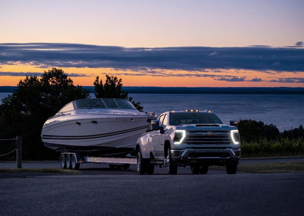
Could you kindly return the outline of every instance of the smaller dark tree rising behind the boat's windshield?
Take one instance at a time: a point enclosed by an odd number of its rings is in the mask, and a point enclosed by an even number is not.
[[[99,76],[96,76],[94,81],[94,90],[96,98],[119,98],[129,100],[134,107],[143,111],[143,107],[140,105],[140,102],[132,101],[133,98],[128,96],[128,92],[123,90],[122,79],[118,79],[116,76],[109,76],[105,74],[106,80],[105,84],[102,84],[102,79],[99,80]]]

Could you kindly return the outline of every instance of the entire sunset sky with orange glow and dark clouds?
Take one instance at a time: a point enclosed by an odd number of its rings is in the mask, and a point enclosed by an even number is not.
[[[304,1],[0,1],[0,86],[304,87]]]

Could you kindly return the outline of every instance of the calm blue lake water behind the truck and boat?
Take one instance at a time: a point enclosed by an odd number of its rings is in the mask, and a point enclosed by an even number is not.
[[[0,100],[10,93],[1,93]],[[304,95],[129,94],[144,111],[211,110],[224,122],[253,119],[273,123],[280,131],[304,125]],[[95,97],[91,94],[91,97]]]

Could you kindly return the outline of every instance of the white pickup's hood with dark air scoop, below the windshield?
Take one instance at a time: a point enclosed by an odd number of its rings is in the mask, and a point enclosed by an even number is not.
[[[237,130],[235,126],[229,125],[220,125],[220,124],[187,124],[187,125],[178,125],[177,130]]]

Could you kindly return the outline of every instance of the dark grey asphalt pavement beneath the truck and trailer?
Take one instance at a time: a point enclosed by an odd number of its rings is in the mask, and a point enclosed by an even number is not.
[[[243,163],[243,161],[242,161]],[[245,163],[245,161],[244,161]],[[0,163],[0,168],[15,163]],[[59,167],[25,162],[24,168]],[[81,164],[81,175],[0,173],[0,215],[303,215],[304,173],[248,174],[179,167],[139,176],[136,166]]]

